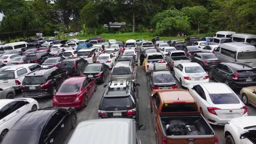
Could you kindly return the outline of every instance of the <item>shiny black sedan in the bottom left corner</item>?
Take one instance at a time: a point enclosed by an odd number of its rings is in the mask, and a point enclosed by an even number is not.
[[[71,107],[33,110],[8,131],[2,144],[62,144],[76,124],[77,115]]]

